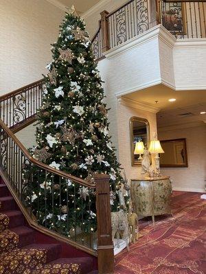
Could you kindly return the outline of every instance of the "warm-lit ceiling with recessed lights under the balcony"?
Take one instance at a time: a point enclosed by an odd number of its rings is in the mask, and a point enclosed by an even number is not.
[[[160,84],[124,97],[159,108],[158,127],[206,121],[206,114],[200,114],[206,112],[206,90],[172,90]],[[169,102],[172,98],[176,101]]]

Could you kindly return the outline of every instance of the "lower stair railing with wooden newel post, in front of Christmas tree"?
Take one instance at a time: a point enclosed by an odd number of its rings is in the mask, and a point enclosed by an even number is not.
[[[1,119],[0,134],[0,174],[23,206],[27,221],[93,255],[98,249],[100,273],[106,273],[108,265],[113,273],[110,177],[80,179],[39,162]]]

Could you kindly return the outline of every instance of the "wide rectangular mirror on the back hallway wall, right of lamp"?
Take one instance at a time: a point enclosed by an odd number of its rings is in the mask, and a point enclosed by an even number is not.
[[[186,139],[161,140],[165,153],[160,155],[161,167],[187,167]]]

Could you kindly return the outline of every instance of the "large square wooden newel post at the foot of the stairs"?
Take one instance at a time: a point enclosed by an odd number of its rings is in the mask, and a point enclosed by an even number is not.
[[[111,228],[110,176],[95,175],[98,218],[98,273],[114,273],[114,246]]]

